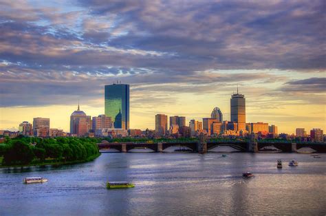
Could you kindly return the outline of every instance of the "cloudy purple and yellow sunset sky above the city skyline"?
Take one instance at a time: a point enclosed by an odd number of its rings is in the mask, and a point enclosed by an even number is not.
[[[130,85],[130,127],[155,114],[325,131],[326,1],[0,0],[0,129],[34,117],[69,131],[104,114],[104,85]]]

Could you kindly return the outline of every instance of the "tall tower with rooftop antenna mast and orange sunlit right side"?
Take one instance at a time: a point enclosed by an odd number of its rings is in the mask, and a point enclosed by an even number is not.
[[[232,94],[230,99],[231,105],[231,122],[237,123],[238,131],[246,130],[246,98],[243,94]]]

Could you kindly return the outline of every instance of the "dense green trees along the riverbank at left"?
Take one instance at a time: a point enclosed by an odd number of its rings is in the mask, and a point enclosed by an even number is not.
[[[52,159],[54,162],[87,160],[98,155],[94,138],[6,138],[0,144],[3,165],[30,164]]]

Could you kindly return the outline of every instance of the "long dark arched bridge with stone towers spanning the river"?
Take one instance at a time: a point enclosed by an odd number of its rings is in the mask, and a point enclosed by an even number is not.
[[[254,145],[254,149],[252,150],[252,145]],[[191,149],[193,152],[202,152],[206,153],[214,149],[215,147],[232,147],[237,151],[248,152],[254,151],[259,152],[262,151],[264,147],[273,147],[274,149],[278,149],[280,152],[297,152],[301,148],[310,148],[313,151],[319,153],[326,153],[326,143],[312,143],[312,142],[301,142],[301,143],[293,143],[293,142],[270,142],[270,141],[259,141],[250,143],[250,141],[242,141],[242,140],[227,140],[227,141],[207,141],[204,144],[200,143],[197,140],[194,141],[177,141],[171,140],[169,142],[107,142],[103,140],[98,143],[99,149],[116,149],[120,152],[128,152],[131,149],[151,149],[154,152],[163,152],[165,149],[169,147],[187,147]]]

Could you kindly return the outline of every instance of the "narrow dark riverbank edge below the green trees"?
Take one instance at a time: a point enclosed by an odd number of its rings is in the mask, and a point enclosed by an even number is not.
[[[95,160],[96,158],[98,158],[100,156],[100,152],[97,153],[96,155],[91,155],[88,158],[84,159],[84,160],[74,160],[74,161],[61,161],[61,162],[54,162],[53,160],[51,162],[32,162],[30,164],[15,164],[15,165],[2,165],[2,157],[0,158],[0,168],[12,168],[12,167],[30,167],[30,166],[47,166],[47,165],[51,165],[51,166],[62,166],[62,165],[70,165],[70,164],[81,164],[81,163],[85,163],[85,162],[91,162],[93,160]]]

